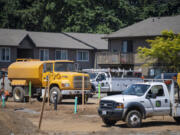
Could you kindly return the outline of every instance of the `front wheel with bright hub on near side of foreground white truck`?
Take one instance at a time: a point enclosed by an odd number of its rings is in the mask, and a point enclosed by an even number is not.
[[[142,122],[142,115],[139,111],[132,110],[126,116],[126,123],[128,127],[140,127]]]

